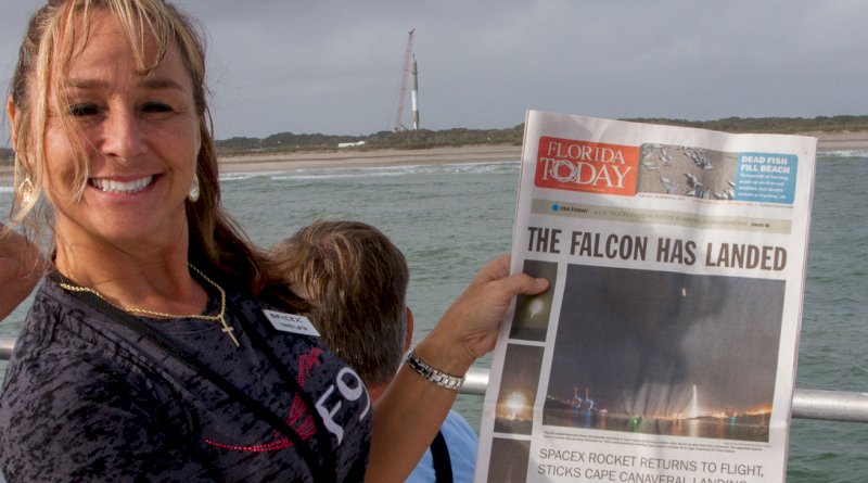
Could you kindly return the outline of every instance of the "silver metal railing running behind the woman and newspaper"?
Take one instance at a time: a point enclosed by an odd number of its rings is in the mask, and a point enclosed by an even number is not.
[[[0,339],[0,360],[12,355],[14,339]],[[488,369],[471,368],[462,394],[485,395]],[[793,393],[792,417],[827,421],[868,422],[868,392],[797,389]]]

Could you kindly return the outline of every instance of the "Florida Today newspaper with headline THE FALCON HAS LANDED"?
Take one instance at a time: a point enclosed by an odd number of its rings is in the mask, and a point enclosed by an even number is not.
[[[816,141],[528,112],[475,481],[784,481]]]

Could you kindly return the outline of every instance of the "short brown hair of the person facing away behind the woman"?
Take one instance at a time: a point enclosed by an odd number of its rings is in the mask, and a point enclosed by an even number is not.
[[[272,252],[326,344],[369,386],[388,383],[409,344],[404,254],[370,225],[328,220],[302,228]]]

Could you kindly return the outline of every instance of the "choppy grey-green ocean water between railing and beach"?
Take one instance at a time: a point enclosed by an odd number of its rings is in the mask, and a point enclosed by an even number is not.
[[[358,219],[384,231],[407,255],[408,303],[418,341],[480,267],[508,253],[518,160],[501,163],[233,174],[224,203],[251,239],[270,245],[318,219]],[[868,383],[868,151],[818,156],[796,386],[866,392]],[[0,212],[12,189],[0,186]],[[14,336],[25,309],[0,325]],[[487,367],[488,358],[477,365]],[[0,363],[0,371],[5,363]],[[455,408],[478,428],[481,396]],[[861,482],[868,425],[794,419],[788,481]],[[728,483],[728,481],[727,481]]]

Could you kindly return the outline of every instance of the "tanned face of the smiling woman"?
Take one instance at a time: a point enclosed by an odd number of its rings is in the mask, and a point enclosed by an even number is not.
[[[145,46],[151,64],[156,42],[148,38]],[[115,18],[97,13],[86,46],[76,52],[61,87],[67,103],[46,130],[47,192],[59,243],[186,250],[184,199],[201,139],[192,80],[177,47],[145,75]],[[80,130],[84,143],[71,142],[59,116]],[[78,145],[90,177],[81,199],[74,200]]]

